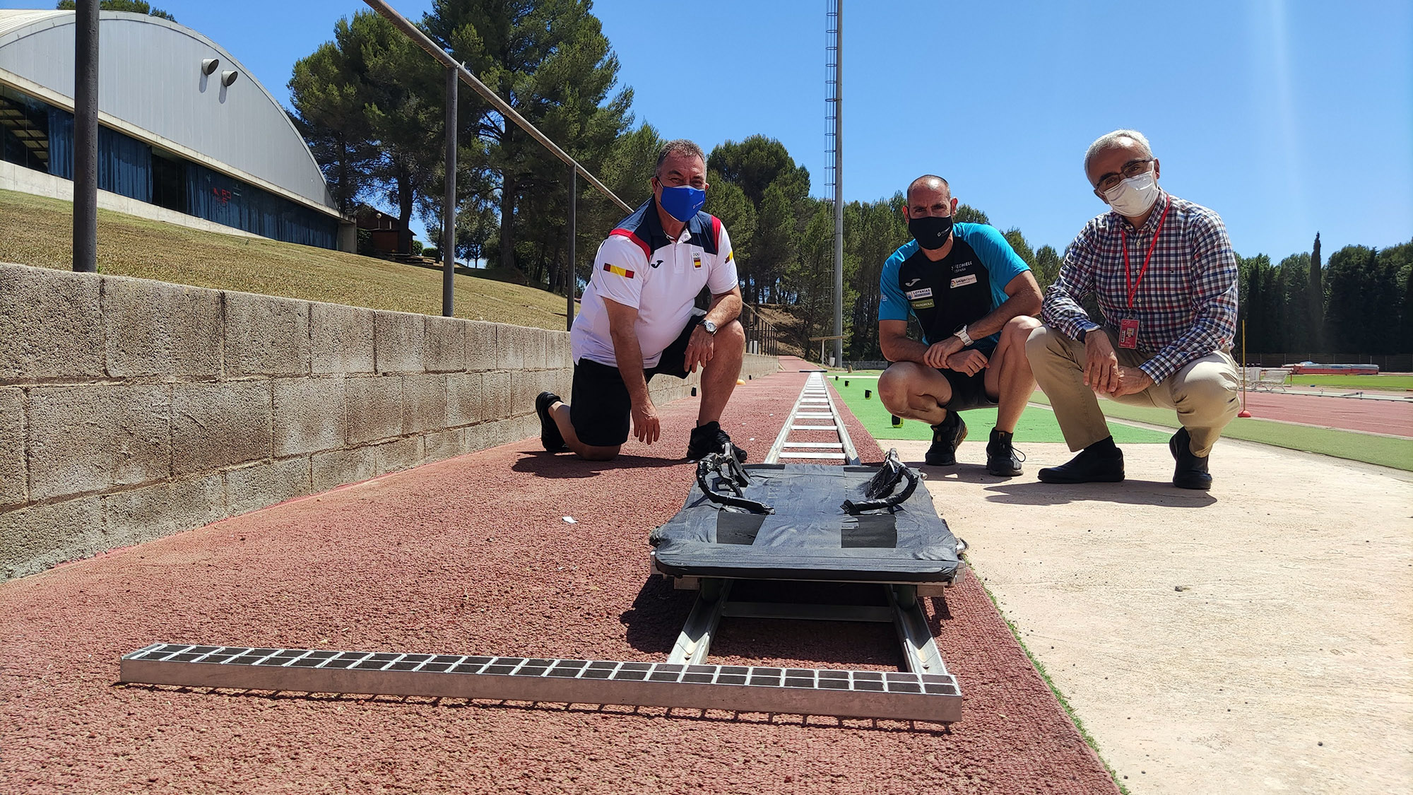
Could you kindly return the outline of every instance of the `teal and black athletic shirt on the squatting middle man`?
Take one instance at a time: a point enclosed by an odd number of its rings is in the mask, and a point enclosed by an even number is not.
[[[887,257],[879,283],[879,320],[906,321],[911,314],[931,345],[1003,304],[1006,284],[1026,270],[1030,266],[995,226],[957,224],[952,250],[941,262],[927,259],[917,240],[909,240]],[[986,340],[993,348],[1000,332]]]

